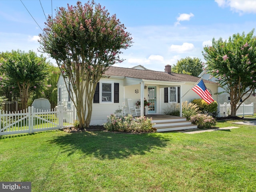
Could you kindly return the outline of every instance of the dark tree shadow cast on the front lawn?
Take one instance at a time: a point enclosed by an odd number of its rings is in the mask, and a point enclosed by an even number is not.
[[[150,152],[162,148],[170,138],[156,134],[115,134],[102,131],[80,132],[58,136],[49,142],[62,147],[68,156],[82,151],[84,155],[99,159],[122,159],[130,155]]]

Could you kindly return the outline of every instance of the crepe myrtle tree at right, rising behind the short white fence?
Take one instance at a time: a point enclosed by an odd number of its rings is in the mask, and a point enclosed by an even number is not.
[[[233,34],[228,40],[212,39],[212,46],[205,46],[203,56],[212,77],[230,94],[231,116],[236,116],[240,99],[249,93],[255,96],[256,87],[256,37],[254,29],[248,34]]]

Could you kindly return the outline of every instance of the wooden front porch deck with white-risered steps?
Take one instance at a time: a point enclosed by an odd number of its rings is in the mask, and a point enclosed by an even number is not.
[[[176,131],[186,129],[196,129],[197,125],[187,121],[184,117],[150,114],[146,115],[147,118],[152,118],[152,123],[155,123],[153,129],[156,132]]]

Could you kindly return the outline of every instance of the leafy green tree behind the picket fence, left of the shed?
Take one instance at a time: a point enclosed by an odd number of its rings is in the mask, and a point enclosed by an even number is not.
[[[21,109],[26,109],[31,94],[44,86],[47,76],[48,62],[42,55],[38,57],[35,52],[22,52],[20,50],[0,54],[0,89],[8,90],[8,94],[19,95]]]

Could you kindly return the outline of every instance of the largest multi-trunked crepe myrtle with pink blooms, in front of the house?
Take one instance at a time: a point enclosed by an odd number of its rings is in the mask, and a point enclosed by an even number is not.
[[[116,15],[94,1],[56,10],[48,16],[46,28],[40,34],[40,49],[56,60],[66,88],[72,86],[70,98],[77,110],[80,128],[90,125],[96,85],[104,72],[122,62],[121,49],[132,43]]]

